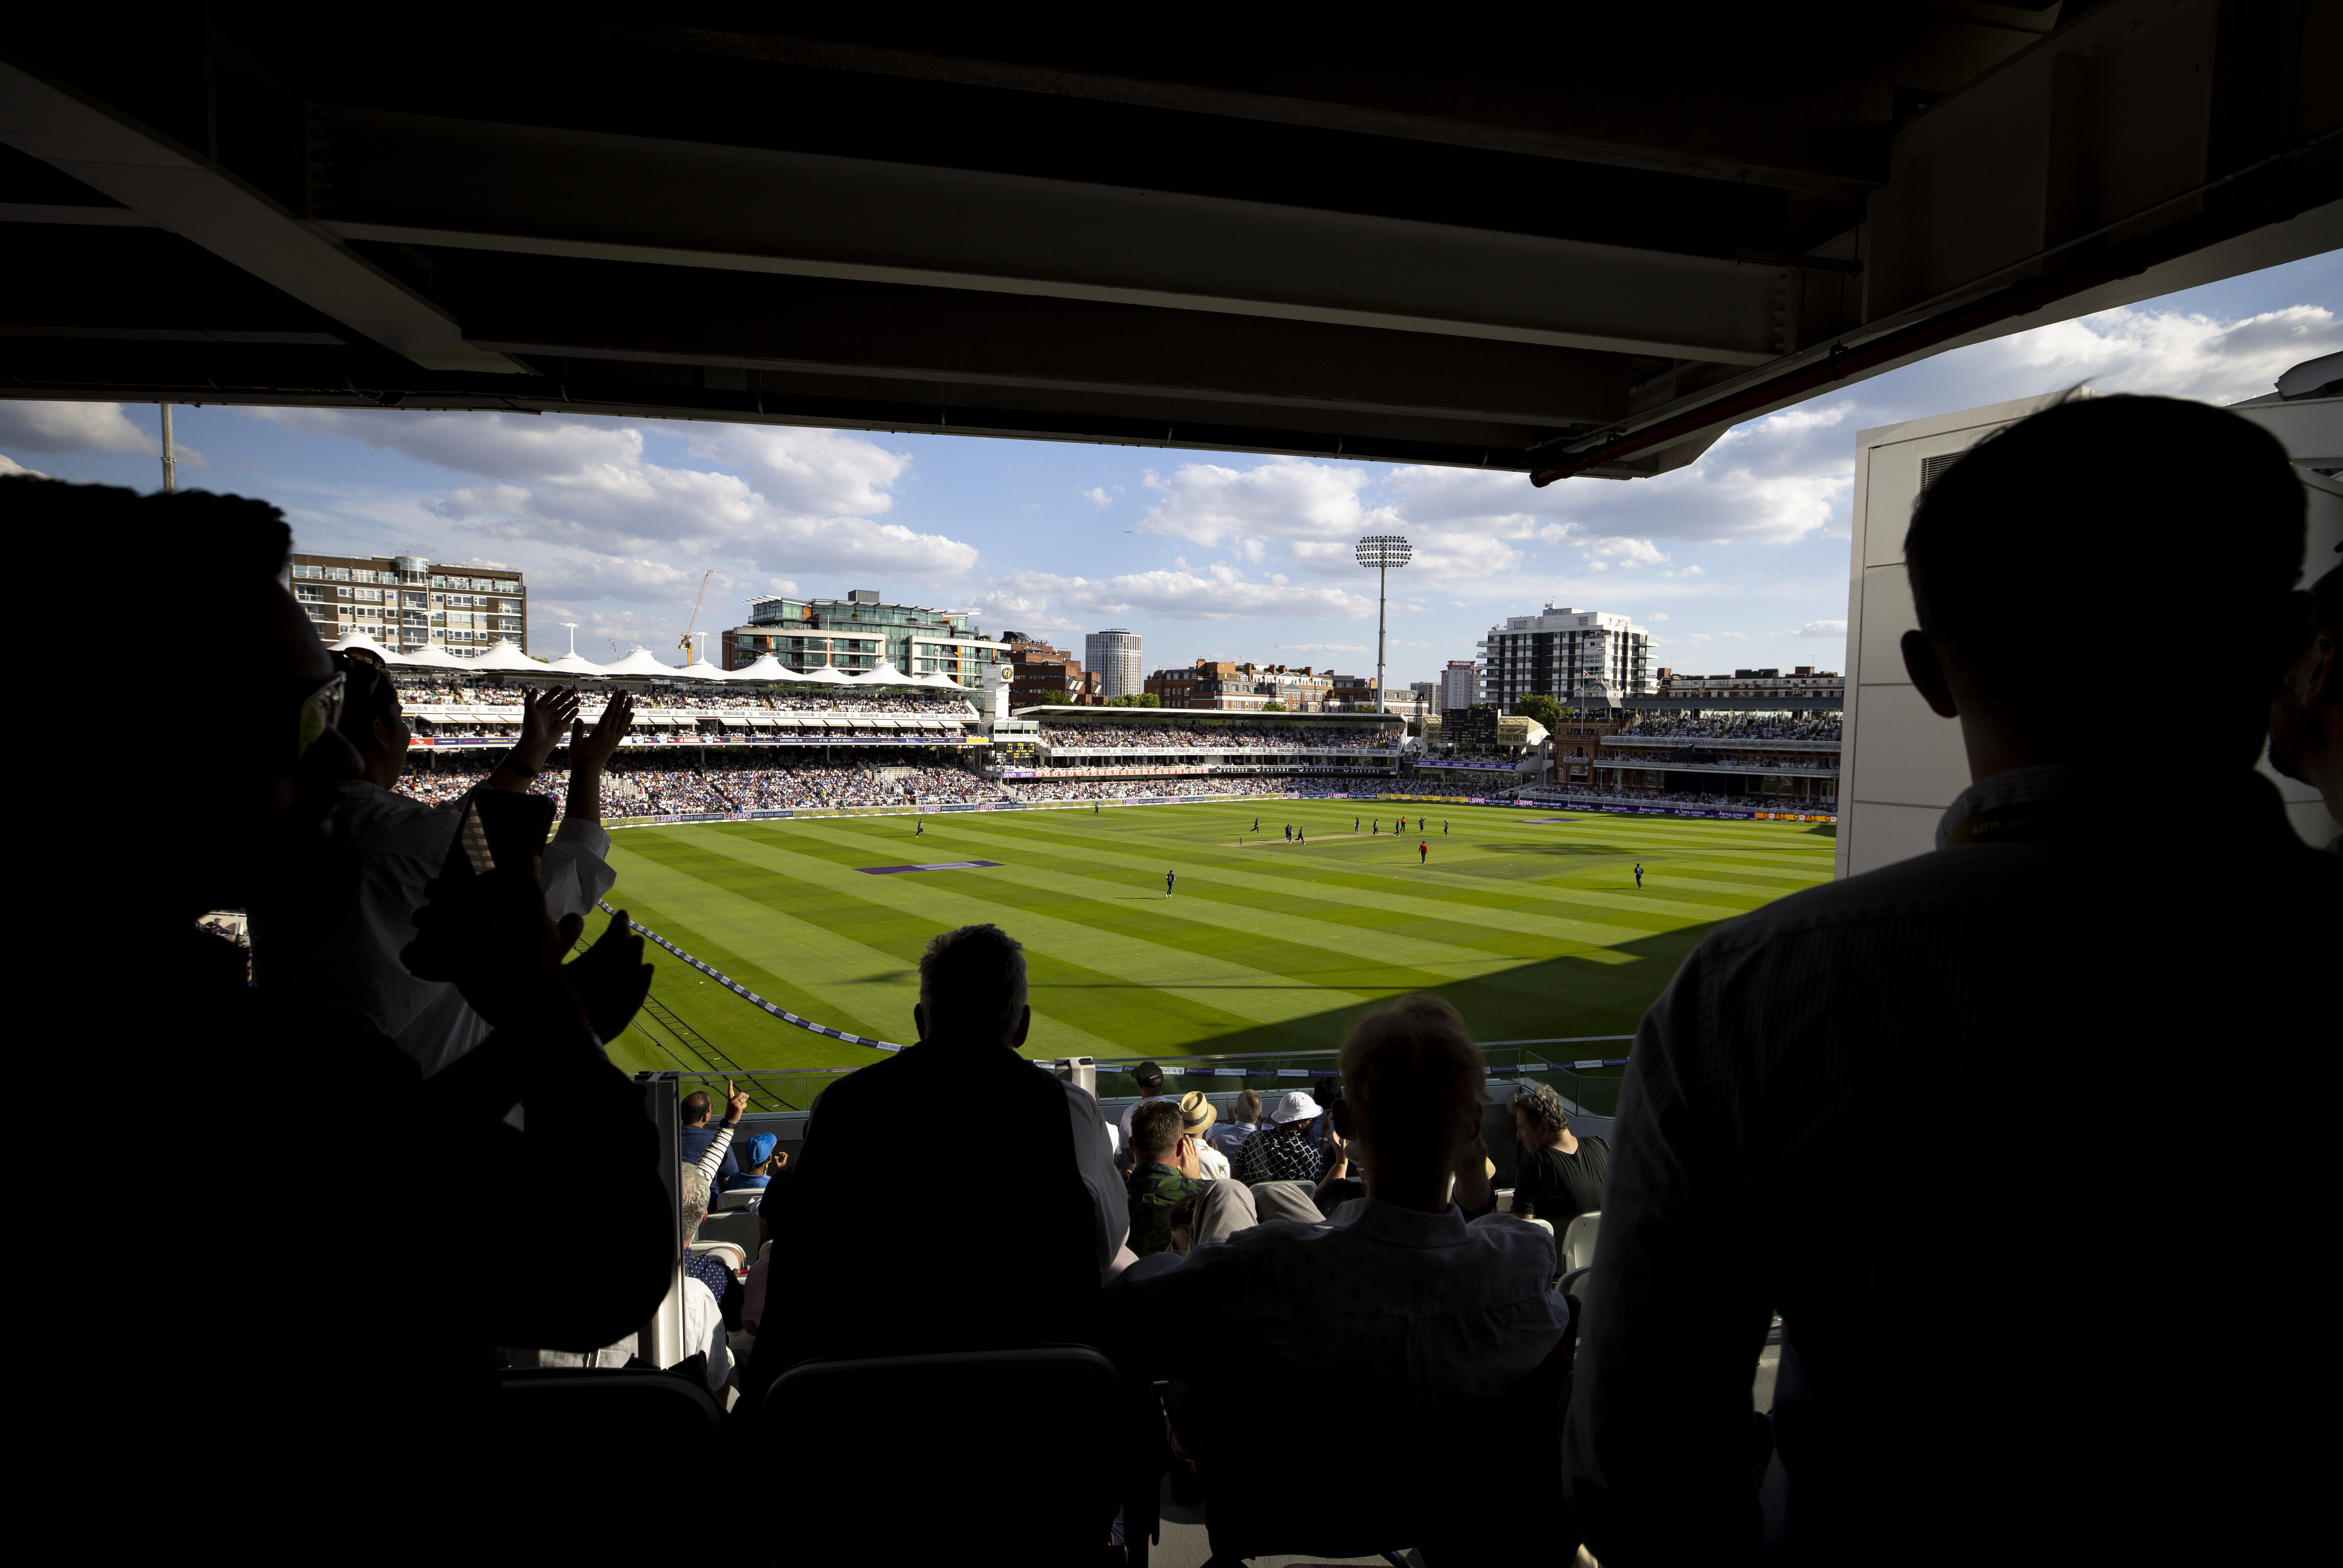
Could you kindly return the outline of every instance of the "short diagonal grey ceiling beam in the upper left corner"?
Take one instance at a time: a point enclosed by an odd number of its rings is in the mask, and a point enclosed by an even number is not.
[[[464,342],[443,309],[351,255],[349,246],[298,223],[211,159],[7,61],[0,61],[0,141],[417,366],[520,370],[501,354]]]

